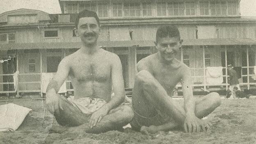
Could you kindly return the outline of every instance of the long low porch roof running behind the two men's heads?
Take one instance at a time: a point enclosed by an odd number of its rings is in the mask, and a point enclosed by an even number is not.
[[[151,47],[154,42],[147,41],[98,41],[100,47]],[[243,39],[185,39],[183,45],[256,45],[256,41]],[[80,42],[53,42],[53,43],[9,43],[0,44],[0,50],[25,50],[25,49],[73,49],[80,48]]]

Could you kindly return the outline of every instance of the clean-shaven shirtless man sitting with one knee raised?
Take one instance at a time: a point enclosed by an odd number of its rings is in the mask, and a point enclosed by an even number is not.
[[[212,92],[195,101],[189,67],[175,58],[182,42],[177,27],[160,27],[155,41],[158,53],[137,64],[132,97],[135,116],[130,123],[134,130],[148,134],[184,127],[185,132],[199,132],[212,126],[201,118],[220,105],[219,94]],[[178,82],[182,84],[184,105],[171,98]]]

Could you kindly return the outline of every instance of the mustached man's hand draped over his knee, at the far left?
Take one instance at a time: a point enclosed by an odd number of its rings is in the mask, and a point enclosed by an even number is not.
[[[55,92],[47,92],[46,94],[46,107],[51,114],[59,112],[59,98]]]

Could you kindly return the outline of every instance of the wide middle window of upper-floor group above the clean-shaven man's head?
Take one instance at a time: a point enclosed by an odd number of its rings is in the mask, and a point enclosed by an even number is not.
[[[168,2],[169,16],[184,16],[184,2]]]

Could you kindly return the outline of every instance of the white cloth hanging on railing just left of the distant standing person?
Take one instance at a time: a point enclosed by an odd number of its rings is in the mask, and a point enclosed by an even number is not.
[[[207,67],[206,81],[208,84],[218,85],[223,83],[223,67]]]

